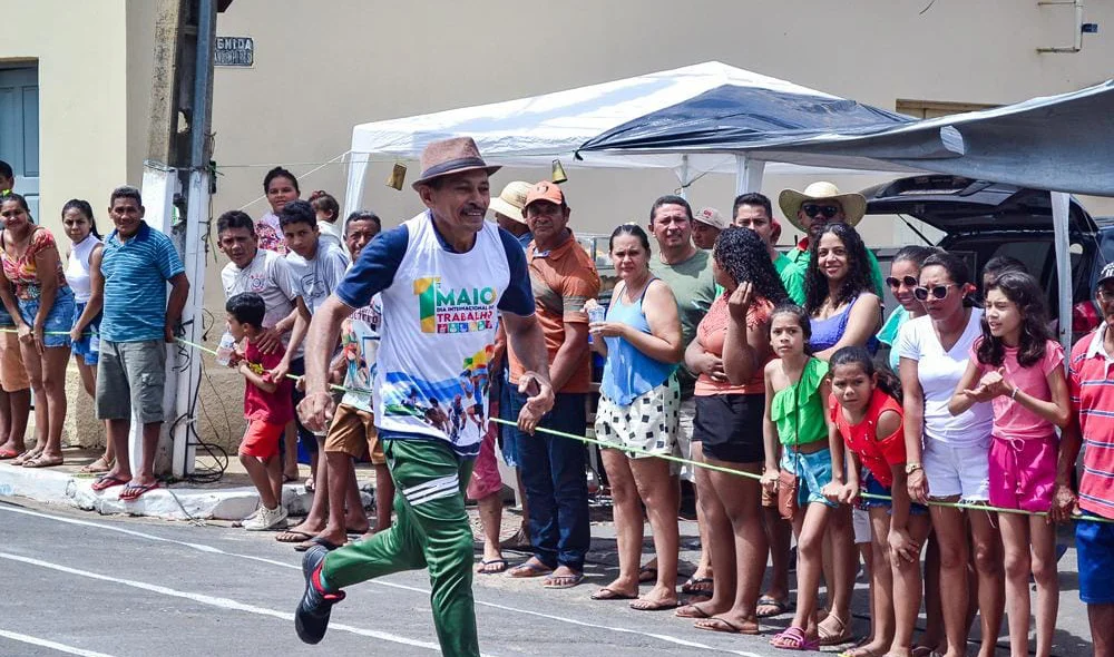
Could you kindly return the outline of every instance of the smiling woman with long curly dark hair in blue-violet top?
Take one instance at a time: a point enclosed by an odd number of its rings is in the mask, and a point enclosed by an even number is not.
[[[858,231],[849,224],[828,224],[812,241],[810,252],[804,310],[812,329],[809,344],[813,353],[823,361],[844,346],[864,346],[873,353],[881,301],[873,293],[870,259]],[[819,626],[824,646],[851,638],[851,592],[858,570],[853,545],[870,545],[869,521],[860,521],[860,526],[856,537],[851,509],[846,506],[836,509],[829,521],[831,559],[825,559],[825,580],[831,582],[830,609]]]

